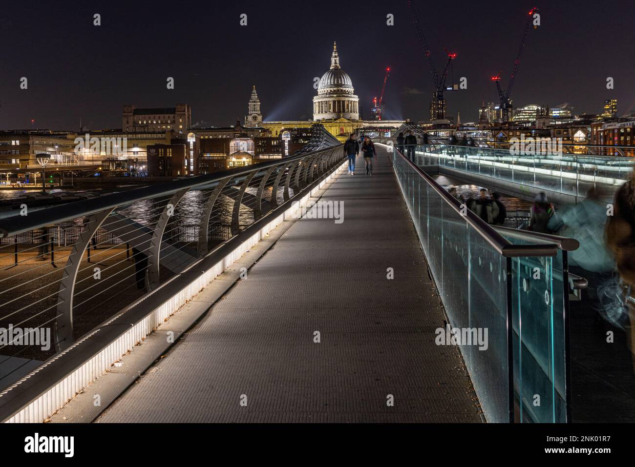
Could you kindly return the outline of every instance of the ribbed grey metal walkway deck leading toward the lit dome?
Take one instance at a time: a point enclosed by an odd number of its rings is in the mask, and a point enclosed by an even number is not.
[[[358,157],[322,197],[342,223],[296,221],[97,422],[480,422],[458,348],[434,343],[440,300],[377,150],[372,176]]]

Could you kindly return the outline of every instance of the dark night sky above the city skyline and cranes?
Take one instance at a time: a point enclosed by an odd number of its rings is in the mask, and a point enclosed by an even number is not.
[[[617,98],[619,115],[635,110],[633,0],[416,3],[438,68],[445,46],[458,54],[454,81],[467,77],[467,89],[446,95],[455,119],[460,111],[475,121],[482,98],[497,101],[490,77],[502,69],[507,85],[533,6],[541,25],[530,30],[514,105],[568,102],[575,113],[598,113]],[[177,102],[192,106],[193,123],[227,126],[242,121],[253,84],[265,121],[309,119],[313,78],[328,70],[333,41],[364,117],[390,66],[385,118],[429,118],[432,77],[406,1],[4,1],[0,31],[0,129],[76,130],[80,115],[91,129],[121,128],[124,103]]]

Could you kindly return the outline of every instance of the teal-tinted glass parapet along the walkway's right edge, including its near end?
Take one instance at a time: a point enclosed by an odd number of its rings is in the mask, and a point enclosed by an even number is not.
[[[441,160],[478,170],[478,161],[467,155],[460,148],[457,157]],[[487,160],[495,161],[497,154],[490,155]],[[503,239],[509,253],[501,251],[467,221],[458,202],[439,193],[436,182],[398,151],[392,159],[450,321],[443,334],[460,333],[456,344],[485,418],[566,421],[566,252],[553,247],[555,256],[518,256],[514,246],[529,242],[511,238]],[[493,175],[493,168],[485,170]]]

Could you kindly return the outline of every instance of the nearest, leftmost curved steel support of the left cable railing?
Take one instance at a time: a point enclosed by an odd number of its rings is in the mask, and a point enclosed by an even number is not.
[[[60,281],[60,291],[57,294],[57,319],[55,320],[55,346],[58,351],[64,350],[73,343],[73,295],[75,292],[75,280],[79,265],[97,229],[106,218],[114,211],[114,207],[104,209],[93,214],[84,225],[84,230],[79,234],[79,239],[73,245],[73,249],[66,261]]]

